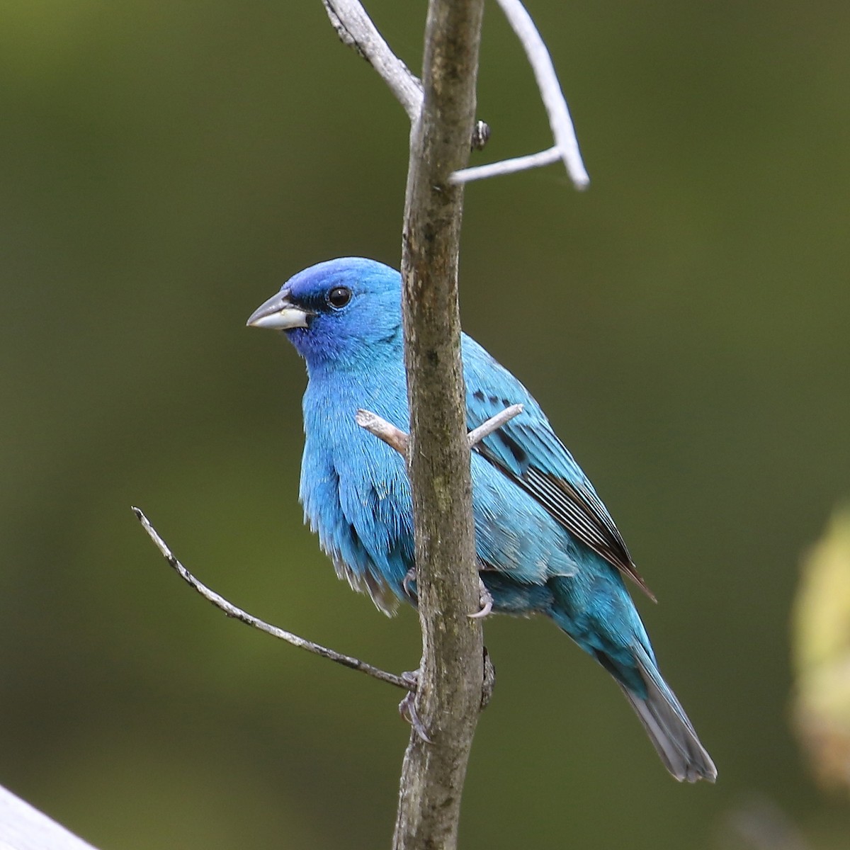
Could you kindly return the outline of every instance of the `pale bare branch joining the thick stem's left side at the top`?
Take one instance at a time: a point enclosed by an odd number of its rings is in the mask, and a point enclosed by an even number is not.
[[[396,56],[357,0],[322,0],[337,35],[354,48],[382,77],[411,124],[422,112],[422,82]]]

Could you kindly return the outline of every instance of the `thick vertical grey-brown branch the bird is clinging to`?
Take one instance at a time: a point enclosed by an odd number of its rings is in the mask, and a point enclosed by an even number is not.
[[[408,465],[416,527],[422,666],[416,709],[428,736],[405,752],[396,850],[456,847],[460,797],[481,706],[483,643],[460,360],[457,267],[483,0],[430,0],[422,114],[414,124],[402,246]]]

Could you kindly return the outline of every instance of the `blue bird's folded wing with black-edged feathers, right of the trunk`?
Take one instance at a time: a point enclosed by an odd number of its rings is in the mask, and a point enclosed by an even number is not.
[[[655,599],[626,543],[581,467],[558,439],[529,391],[470,337],[463,340],[467,423],[475,428],[509,405],[524,411],[475,450],[532,496],[572,536]]]

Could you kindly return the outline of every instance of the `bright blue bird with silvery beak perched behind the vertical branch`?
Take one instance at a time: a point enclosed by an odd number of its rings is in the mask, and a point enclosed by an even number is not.
[[[362,258],[318,263],[248,325],[284,331],[306,361],[300,498],[337,575],[388,614],[399,600],[416,604],[405,462],[354,422],[364,408],[409,430],[399,273]],[[468,428],[524,405],[472,452],[479,575],[493,610],[550,617],[615,678],[670,773],[713,782],[717,768],[626,590],[624,575],[649,593],[614,520],[528,390],[465,334],[462,359]]]

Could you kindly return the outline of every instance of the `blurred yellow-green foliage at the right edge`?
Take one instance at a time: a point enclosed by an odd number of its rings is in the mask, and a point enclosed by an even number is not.
[[[802,567],[794,610],[797,734],[825,785],[850,790],[850,507]]]

